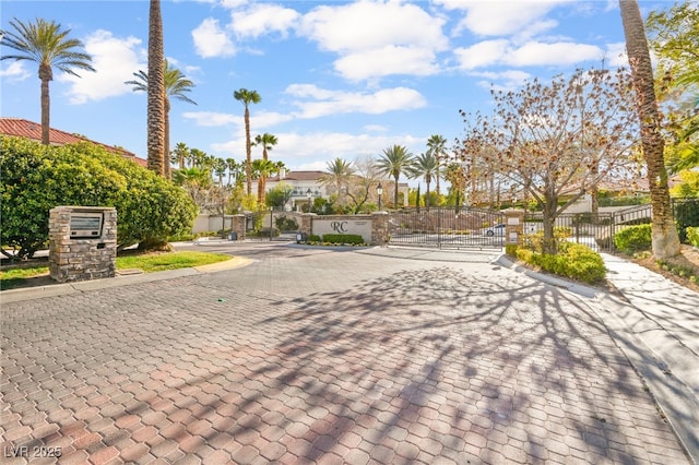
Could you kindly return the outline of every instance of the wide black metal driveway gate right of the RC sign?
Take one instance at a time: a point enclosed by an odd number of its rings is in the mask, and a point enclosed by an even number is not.
[[[505,246],[505,222],[500,212],[430,207],[389,215],[391,245],[439,249],[501,249]]]

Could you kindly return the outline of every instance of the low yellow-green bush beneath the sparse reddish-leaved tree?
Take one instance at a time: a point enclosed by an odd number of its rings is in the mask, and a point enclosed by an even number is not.
[[[561,245],[558,252],[552,255],[524,248],[516,251],[519,260],[560,276],[590,284],[605,278],[606,269],[602,257],[589,247],[568,242]]]

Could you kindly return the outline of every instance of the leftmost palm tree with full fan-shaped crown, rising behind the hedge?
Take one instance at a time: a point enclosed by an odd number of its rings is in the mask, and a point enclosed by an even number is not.
[[[95,71],[90,64],[92,57],[78,51],[83,43],[67,38],[70,29],[61,31],[61,25],[37,19],[35,23],[23,23],[16,17],[10,21],[13,31],[2,31],[0,44],[16,50],[19,53],[3,55],[0,60],[28,60],[39,65],[42,81],[42,143],[48,145],[51,128],[51,99],[49,97],[49,81],[54,80],[54,68],[60,71],[80,75],[74,69]]]

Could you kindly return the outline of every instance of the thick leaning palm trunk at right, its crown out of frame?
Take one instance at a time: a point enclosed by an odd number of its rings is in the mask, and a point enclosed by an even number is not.
[[[680,253],[679,236],[673,220],[665,168],[664,140],[661,132],[661,116],[657,111],[653,65],[643,27],[643,19],[636,0],[619,0],[626,52],[631,65],[633,87],[637,94],[637,110],[641,124],[641,146],[648,169],[648,184],[653,206],[652,250],[657,260]]]

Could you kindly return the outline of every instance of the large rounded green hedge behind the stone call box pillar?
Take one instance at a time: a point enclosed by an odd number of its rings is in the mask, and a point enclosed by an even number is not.
[[[0,236],[21,258],[46,246],[58,205],[116,207],[120,248],[191,230],[197,206],[182,189],[100,146],[0,136]]]

